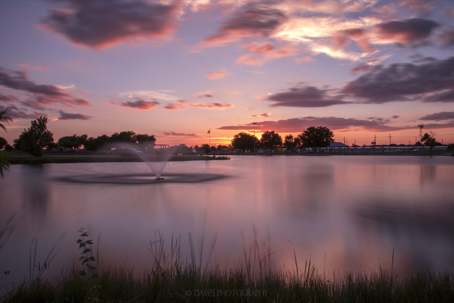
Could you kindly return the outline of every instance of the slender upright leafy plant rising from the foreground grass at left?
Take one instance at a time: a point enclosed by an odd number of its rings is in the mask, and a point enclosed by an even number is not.
[[[82,256],[79,258],[79,261],[82,261],[82,270],[79,270],[79,275],[81,277],[87,277],[89,280],[88,287],[88,296],[85,298],[85,302],[97,302],[99,301],[99,288],[98,285],[98,273],[96,273],[97,267],[94,266],[96,258],[93,256],[91,245],[93,240],[86,240],[88,233],[84,231],[84,228],[79,229],[79,239],[76,243],[79,243],[79,249],[84,248],[82,251]]]

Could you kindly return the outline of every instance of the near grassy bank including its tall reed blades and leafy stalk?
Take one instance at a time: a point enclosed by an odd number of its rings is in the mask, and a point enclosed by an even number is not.
[[[87,233],[81,236],[88,239]],[[454,302],[452,270],[398,276],[392,268],[390,272],[379,268],[376,271],[335,270],[325,275],[318,274],[310,260],[298,263],[295,254],[291,269],[272,269],[269,266],[271,253],[269,250],[261,253],[257,241],[252,243],[253,249],[244,249],[244,258],[233,267],[211,263],[200,266],[195,264],[201,264],[202,256],[197,261],[199,256],[194,253],[188,258],[180,255],[181,236],[172,238],[168,252],[163,249],[162,234],[159,236],[148,247],[153,263],[151,271],[139,275],[123,267],[98,269],[96,260],[99,258],[91,254],[92,240],[77,241],[82,252],[79,260],[85,263],[82,268],[73,266],[71,273],[53,278],[45,278],[42,267],[38,267],[38,274],[35,275],[35,270],[32,273],[35,261],[30,253],[30,278],[2,289],[0,300],[4,303]]]

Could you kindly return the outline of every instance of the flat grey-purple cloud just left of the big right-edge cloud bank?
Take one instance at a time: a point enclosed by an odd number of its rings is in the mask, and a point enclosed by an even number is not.
[[[271,104],[273,107],[326,107],[337,104],[352,103],[342,101],[341,98],[328,95],[328,90],[329,89],[318,89],[314,86],[296,86],[288,89],[284,93],[268,95],[266,100],[276,102]]]

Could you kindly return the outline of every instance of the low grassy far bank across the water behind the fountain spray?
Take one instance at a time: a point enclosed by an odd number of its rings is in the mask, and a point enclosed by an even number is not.
[[[172,156],[170,159],[164,157],[150,157],[150,161],[204,161],[204,160],[227,160],[227,156]],[[44,156],[44,157],[14,157],[10,158],[10,164],[46,164],[46,163],[95,163],[95,162],[143,162],[139,157],[121,156]]]

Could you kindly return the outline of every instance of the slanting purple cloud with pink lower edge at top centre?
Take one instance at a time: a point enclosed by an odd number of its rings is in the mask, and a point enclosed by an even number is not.
[[[266,5],[273,2],[251,2],[245,5],[225,21],[215,35],[205,39],[203,44],[217,46],[246,38],[269,37],[286,20],[280,10]]]

